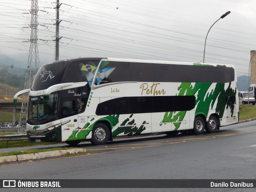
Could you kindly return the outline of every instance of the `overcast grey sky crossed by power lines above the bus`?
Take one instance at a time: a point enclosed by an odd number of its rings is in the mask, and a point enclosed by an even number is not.
[[[117,57],[233,64],[248,75],[256,0],[60,0],[60,60]],[[40,66],[54,61],[56,1],[38,0]],[[27,55],[31,0],[0,0],[0,54]]]

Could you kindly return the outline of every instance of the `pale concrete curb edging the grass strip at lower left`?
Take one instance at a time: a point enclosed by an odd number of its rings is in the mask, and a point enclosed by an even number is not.
[[[46,151],[46,152],[31,153],[31,154],[4,156],[4,157],[0,157],[0,163],[42,159],[46,157],[57,157],[57,156],[65,155],[67,153],[74,154],[78,152],[86,152],[86,149],[76,148],[76,149],[55,150],[55,151]]]

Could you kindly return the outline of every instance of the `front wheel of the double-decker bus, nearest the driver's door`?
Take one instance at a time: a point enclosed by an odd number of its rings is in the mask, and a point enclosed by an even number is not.
[[[108,126],[103,123],[97,123],[92,129],[92,138],[90,142],[94,145],[104,145],[108,142],[110,131]]]

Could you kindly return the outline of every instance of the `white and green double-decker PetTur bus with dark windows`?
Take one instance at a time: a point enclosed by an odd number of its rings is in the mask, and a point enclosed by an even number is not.
[[[238,122],[234,66],[120,58],[44,64],[29,92],[31,142],[90,140],[164,132],[215,132]]]

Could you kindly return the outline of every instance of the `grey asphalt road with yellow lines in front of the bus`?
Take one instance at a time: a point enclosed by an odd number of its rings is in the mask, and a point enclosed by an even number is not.
[[[256,120],[216,133],[117,139],[104,146],[85,142],[90,155],[3,164],[1,179],[256,179]],[[203,182],[203,181],[202,181]],[[99,183],[100,185],[100,183]],[[70,191],[71,189],[4,189]],[[74,189],[116,191],[256,191],[254,189]]]

